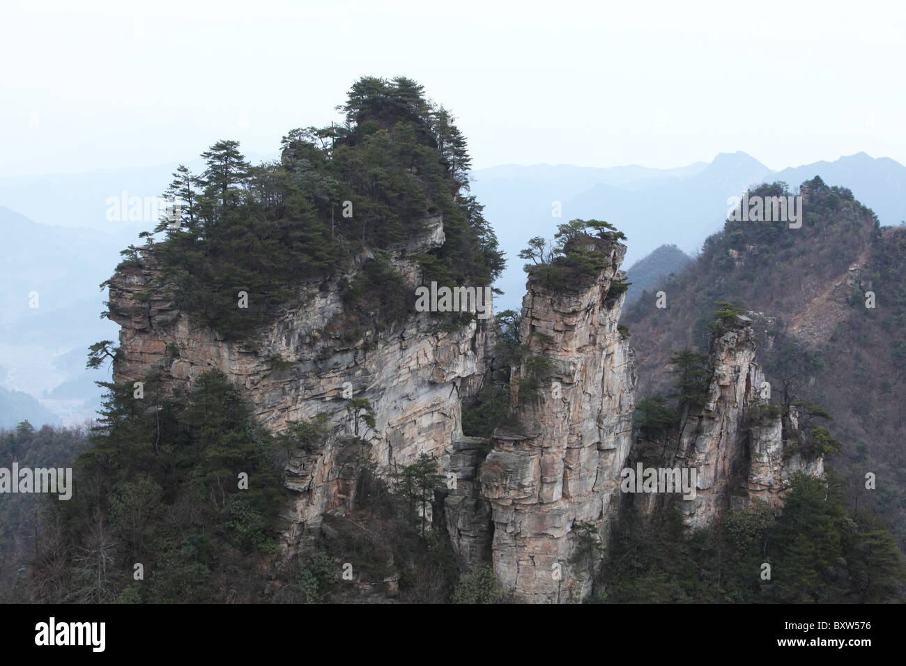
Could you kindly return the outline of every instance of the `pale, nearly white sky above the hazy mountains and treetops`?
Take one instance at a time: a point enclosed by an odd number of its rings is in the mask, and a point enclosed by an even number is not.
[[[452,109],[477,169],[906,163],[895,2],[18,2],[4,5],[0,175],[278,150],[362,75]]]

